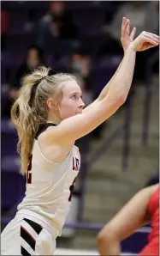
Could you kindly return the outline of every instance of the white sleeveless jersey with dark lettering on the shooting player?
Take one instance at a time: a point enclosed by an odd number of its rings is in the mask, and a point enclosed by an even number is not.
[[[46,124],[43,131],[50,125],[53,124]],[[79,170],[80,152],[76,146],[64,161],[51,162],[44,157],[35,139],[27,172],[26,196],[18,205],[19,213],[28,210],[30,215],[57,227],[57,235],[61,235]]]

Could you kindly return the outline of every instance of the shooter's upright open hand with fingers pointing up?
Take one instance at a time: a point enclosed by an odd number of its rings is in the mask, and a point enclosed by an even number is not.
[[[130,34],[130,21],[126,17],[123,17],[121,23],[121,45],[124,52],[126,52],[127,47],[133,42],[135,32],[136,27],[133,27]]]

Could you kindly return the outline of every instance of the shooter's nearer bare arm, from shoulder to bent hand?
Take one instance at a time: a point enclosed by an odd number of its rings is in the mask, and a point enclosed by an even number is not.
[[[80,137],[93,131],[126,101],[133,80],[133,70],[137,51],[145,51],[157,46],[159,37],[143,32],[127,48],[121,67],[110,85],[108,94],[98,104],[92,106],[86,113],[63,119],[56,128],[50,130],[57,143],[74,143]],[[81,103],[80,103],[81,104]],[[50,142],[51,143],[51,142]]]

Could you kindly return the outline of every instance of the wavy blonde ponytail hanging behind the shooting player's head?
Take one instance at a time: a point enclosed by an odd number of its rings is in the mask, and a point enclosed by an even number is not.
[[[11,119],[18,131],[18,152],[21,155],[21,174],[27,173],[28,159],[33,149],[34,137],[39,130],[39,116],[31,102],[35,81],[32,76],[24,79],[21,94],[11,108]]]

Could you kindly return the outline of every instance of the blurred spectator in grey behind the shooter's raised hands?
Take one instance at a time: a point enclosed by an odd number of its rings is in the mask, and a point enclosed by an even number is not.
[[[110,25],[104,26],[106,41],[99,51],[100,56],[103,54],[119,54],[122,52],[120,35],[121,19],[123,16],[130,19],[131,29],[133,27],[137,28],[135,36],[138,36],[142,31],[159,34],[157,4],[153,1],[127,1],[116,11]],[[152,48],[150,51],[140,52],[140,54],[139,52],[137,53],[134,72],[136,78],[140,80],[144,79],[147,60],[155,51],[157,51],[157,49]]]

